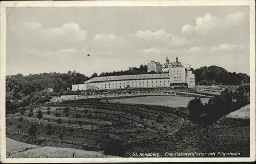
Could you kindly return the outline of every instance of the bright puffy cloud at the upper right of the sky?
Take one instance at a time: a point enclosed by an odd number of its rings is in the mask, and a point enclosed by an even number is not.
[[[203,17],[195,19],[195,26],[185,24],[181,28],[182,34],[201,34],[206,35],[207,32],[216,30],[225,30],[234,26],[242,26],[245,21],[243,12],[235,12],[226,15],[224,18],[215,17],[211,14],[206,14]]]

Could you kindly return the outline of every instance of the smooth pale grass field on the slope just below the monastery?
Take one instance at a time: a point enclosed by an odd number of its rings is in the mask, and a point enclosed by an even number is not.
[[[168,107],[186,107],[193,97],[180,96],[147,96],[114,99],[110,102],[130,103],[130,104],[147,104],[147,105],[163,105]],[[202,103],[208,102],[208,98],[201,98]]]

